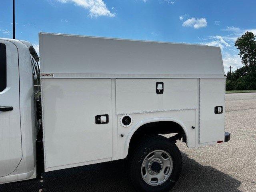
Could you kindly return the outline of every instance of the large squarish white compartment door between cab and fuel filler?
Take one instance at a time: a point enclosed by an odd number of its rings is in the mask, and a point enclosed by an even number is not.
[[[110,79],[42,79],[42,101],[46,168],[112,157]]]

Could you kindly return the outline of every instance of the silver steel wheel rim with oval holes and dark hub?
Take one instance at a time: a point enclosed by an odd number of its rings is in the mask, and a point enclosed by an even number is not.
[[[144,158],[141,176],[147,184],[157,186],[168,180],[172,169],[173,162],[170,154],[164,150],[155,150]]]

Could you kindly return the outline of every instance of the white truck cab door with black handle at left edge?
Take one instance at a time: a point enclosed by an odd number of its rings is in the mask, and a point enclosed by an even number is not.
[[[22,158],[18,50],[0,40],[0,177],[11,174]]]

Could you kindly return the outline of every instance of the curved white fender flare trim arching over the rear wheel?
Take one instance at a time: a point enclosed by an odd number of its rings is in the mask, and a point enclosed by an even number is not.
[[[161,121],[172,121],[172,122],[176,122],[177,124],[179,124],[185,135],[186,135],[186,140],[187,140],[187,146],[189,146],[189,135],[188,135],[188,130],[186,129],[186,126],[179,120],[177,120],[176,118],[172,118],[172,117],[160,117],[160,118],[150,118],[150,119],[144,119],[139,121],[138,123],[136,123],[129,131],[128,136],[126,137],[126,141],[124,144],[124,155],[127,156],[128,155],[128,150],[129,150],[129,145],[130,145],[130,140],[133,136],[133,134],[144,124],[147,123],[152,123],[152,122],[161,122]]]

